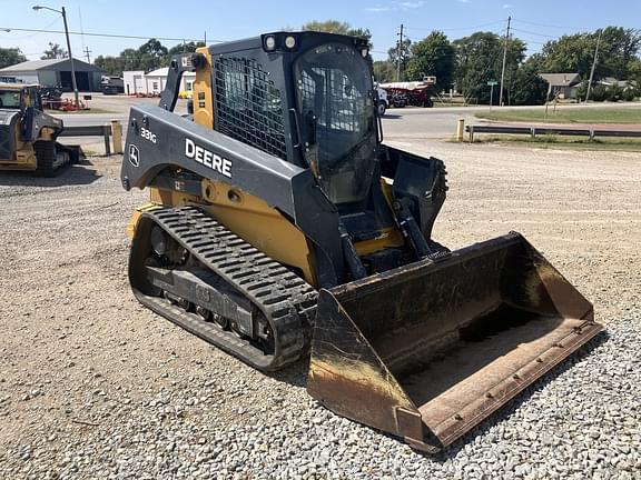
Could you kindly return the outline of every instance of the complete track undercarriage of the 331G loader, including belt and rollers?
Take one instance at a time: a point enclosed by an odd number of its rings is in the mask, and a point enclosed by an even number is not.
[[[140,302],[253,367],[306,354],[316,290],[198,209],[144,213],[129,264]]]

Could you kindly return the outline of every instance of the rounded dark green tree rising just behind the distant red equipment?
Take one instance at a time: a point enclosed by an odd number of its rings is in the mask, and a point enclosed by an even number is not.
[[[433,31],[412,46],[407,80],[422,80],[425,76],[436,76],[436,89],[445,90],[452,86],[454,66],[454,47],[443,32]]]

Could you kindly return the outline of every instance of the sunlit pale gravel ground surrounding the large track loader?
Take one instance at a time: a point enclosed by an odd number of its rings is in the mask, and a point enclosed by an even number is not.
[[[402,144],[446,161],[435,237],[517,230],[608,333],[437,457],[334,416],[140,307],[119,159],[0,176],[0,478],[641,479],[641,158]]]

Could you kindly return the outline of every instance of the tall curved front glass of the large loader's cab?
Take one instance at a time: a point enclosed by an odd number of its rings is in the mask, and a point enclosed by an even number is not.
[[[372,73],[354,48],[326,43],[296,61],[305,158],[334,203],[359,201],[374,171]]]

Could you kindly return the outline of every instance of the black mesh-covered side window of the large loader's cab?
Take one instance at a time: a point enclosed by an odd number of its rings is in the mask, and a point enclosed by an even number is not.
[[[244,58],[218,59],[215,82],[216,129],[286,159],[280,91],[260,64]]]

